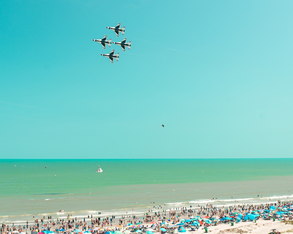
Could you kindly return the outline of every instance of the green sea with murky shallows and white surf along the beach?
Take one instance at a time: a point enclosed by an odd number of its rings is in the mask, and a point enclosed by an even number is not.
[[[102,173],[95,172],[98,165]],[[289,201],[292,168],[288,158],[1,159],[0,222]]]

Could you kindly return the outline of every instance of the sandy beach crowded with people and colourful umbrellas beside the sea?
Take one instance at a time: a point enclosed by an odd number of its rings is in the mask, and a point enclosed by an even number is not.
[[[276,205],[276,210],[274,206]],[[170,210],[164,210],[163,207],[155,207],[154,210],[150,210],[143,215],[135,216],[127,214],[120,217],[115,216],[103,216],[99,214],[98,216],[88,215],[84,218],[77,218],[68,214],[67,217],[50,217],[45,215],[43,217],[33,217],[34,220],[30,219],[25,225],[18,223],[2,223],[1,234],[40,234],[41,233],[59,233],[59,234],[105,234],[107,231],[120,230],[122,233],[128,234],[130,232],[136,234],[133,228],[136,225],[139,229],[139,233],[147,233],[152,231],[155,234],[163,233],[161,228],[166,228],[167,233],[178,233],[179,226],[178,223],[183,222],[186,229],[186,233],[255,233],[255,234],[267,234],[270,230],[276,229],[280,233],[293,234],[293,221],[292,221],[292,209],[287,209],[286,207],[291,207],[291,202],[287,203],[271,203],[265,205],[253,205],[253,204],[242,204],[234,205],[230,207],[213,207],[212,204],[207,204],[207,206],[197,206],[193,209],[187,209],[187,207],[176,207]],[[270,210],[268,210],[270,208]],[[280,209],[279,209],[280,208]],[[281,209],[282,208],[282,209]],[[279,210],[287,209],[289,212],[279,215]],[[260,211],[262,209],[262,211]],[[270,217],[266,216],[264,212],[271,211]],[[209,212],[209,214],[208,214]],[[251,214],[260,213],[259,216],[254,220],[245,219],[244,216]],[[242,216],[241,221],[236,222],[236,216]],[[64,213],[64,215],[66,215]],[[196,216],[197,215],[197,216]],[[205,217],[202,217],[202,216]],[[235,220],[231,220],[230,217],[235,216]],[[274,218],[273,218],[274,216]],[[199,227],[192,226],[190,218],[200,221],[201,225]],[[219,223],[210,223],[207,221],[209,218],[218,220]],[[37,218],[37,219],[36,219]],[[230,220],[224,220],[223,218],[230,218]],[[188,221],[188,219],[190,221]],[[33,221],[33,222],[32,222]],[[164,222],[167,222],[164,224]],[[232,222],[233,221],[233,222]],[[194,223],[197,221],[194,221]],[[232,225],[233,224],[233,225]],[[134,226],[133,226],[134,225]],[[140,226],[138,226],[140,225]],[[156,227],[153,227],[156,225]],[[76,231],[75,231],[76,230]],[[110,234],[110,233],[108,233]],[[112,234],[112,233],[111,233]],[[120,233],[119,233],[120,234]]]

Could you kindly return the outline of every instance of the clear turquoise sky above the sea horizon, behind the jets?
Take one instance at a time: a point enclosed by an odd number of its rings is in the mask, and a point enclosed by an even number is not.
[[[1,1],[0,158],[292,157],[292,9]]]

